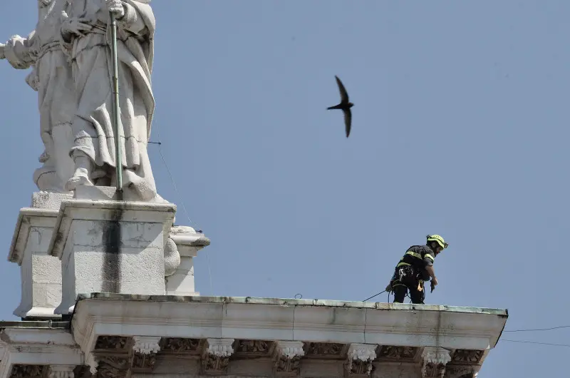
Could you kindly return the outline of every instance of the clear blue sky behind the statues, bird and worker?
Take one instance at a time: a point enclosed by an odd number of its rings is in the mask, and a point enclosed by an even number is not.
[[[363,300],[439,233],[450,248],[427,303],[508,308],[507,330],[570,323],[568,1],[152,4],[151,140],[160,129],[180,195],[157,145],[151,163],[178,223],[183,201],[212,239],[202,295]],[[0,39],[35,23],[36,1],[3,0]],[[0,62],[6,255],[43,148],[26,73]],[[334,75],[356,104],[348,139],[325,110]],[[19,268],[0,272],[0,318],[14,319]],[[500,342],[480,377],[561,374],[567,353]]]

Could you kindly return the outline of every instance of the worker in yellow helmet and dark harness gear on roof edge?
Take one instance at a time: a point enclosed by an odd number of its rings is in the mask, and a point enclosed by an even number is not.
[[[440,235],[427,235],[425,245],[413,245],[405,252],[395,267],[394,275],[386,291],[394,292],[394,302],[403,303],[410,292],[412,303],[422,304],[425,300],[424,282],[431,278],[432,290],[437,285],[433,270],[435,256],[447,248],[447,242]]]

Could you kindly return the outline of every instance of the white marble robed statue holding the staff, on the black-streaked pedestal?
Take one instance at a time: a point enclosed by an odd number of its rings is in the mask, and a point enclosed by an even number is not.
[[[120,148],[123,190],[142,201],[159,199],[147,154],[155,99],[150,73],[155,16],[150,0],[67,0],[61,27],[76,89],[72,121],[75,163],[68,190],[115,185],[115,135],[109,12],[118,20]],[[131,197],[132,198],[132,197]]]

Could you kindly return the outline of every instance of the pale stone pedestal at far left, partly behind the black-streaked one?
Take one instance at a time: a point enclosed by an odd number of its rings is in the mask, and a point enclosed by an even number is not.
[[[53,320],[61,302],[61,262],[48,245],[62,200],[71,195],[33,193],[31,208],[20,210],[8,260],[21,268],[21,302],[14,315],[26,320]]]

